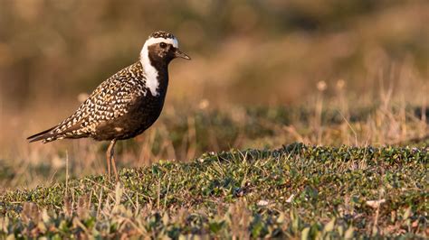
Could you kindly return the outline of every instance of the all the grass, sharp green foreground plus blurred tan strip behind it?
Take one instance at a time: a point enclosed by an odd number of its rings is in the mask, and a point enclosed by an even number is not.
[[[119,144],[119,185],[105,144],[21,149],[0,160],[0,235],[427,237],[427,107],[337,100],[167,108]]]

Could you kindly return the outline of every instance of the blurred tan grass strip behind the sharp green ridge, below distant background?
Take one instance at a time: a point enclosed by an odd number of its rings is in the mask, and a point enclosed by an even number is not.
[[[227,109],[167,108],[154,127],[136,139],[119,142],[119,164],[150,165],[158,159],[189,161],[203,152],[278,148],[284,143],[340,146],[421,147],[428,145],[429,110],[403,104],[338,107],[325,101],[322,111],[310,106],[234,106]],[[105,171],[107,143],[91,140],[41,144],[11,140],[0,157],[4,189],[65,180],[66,159],[72,177]],[[14,149],[16,148],[16,149]],[[12,150],[14,149],[14,150]]]

